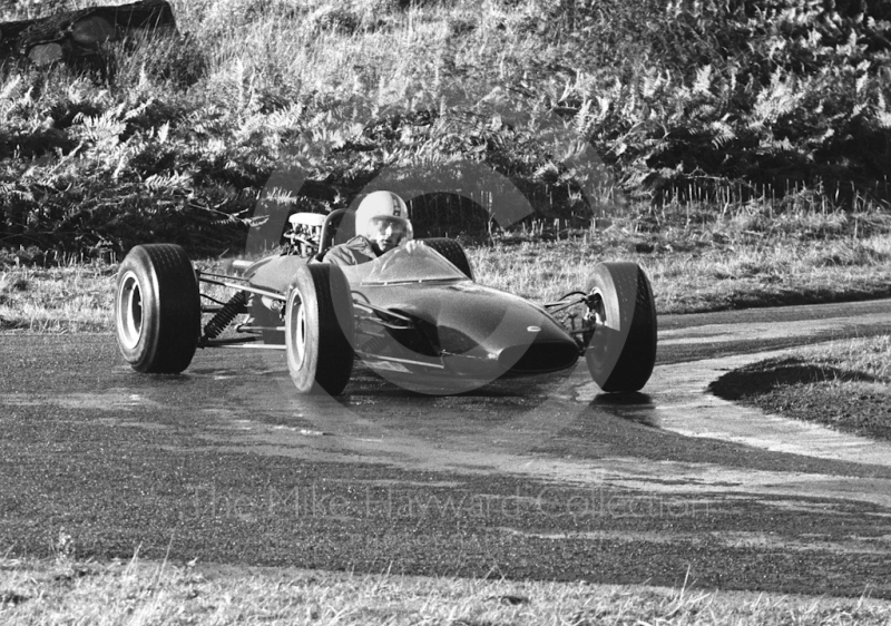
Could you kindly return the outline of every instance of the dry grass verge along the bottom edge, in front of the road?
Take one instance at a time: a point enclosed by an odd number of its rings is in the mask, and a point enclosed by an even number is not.
[[[0,620],[174,624],[888,624],[891,605],[586,583],[351,575],[235,566],[0,563]]]

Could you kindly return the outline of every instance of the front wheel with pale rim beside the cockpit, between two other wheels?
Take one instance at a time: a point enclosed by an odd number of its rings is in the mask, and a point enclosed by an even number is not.
[[[353,372],[350,283],[336,265],[297,268],[285,309],[287,369],[301,393],[340,394]]]

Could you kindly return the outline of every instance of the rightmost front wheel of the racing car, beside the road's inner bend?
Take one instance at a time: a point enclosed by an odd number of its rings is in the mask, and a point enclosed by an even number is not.
[[[653,288],[636,263],[599,263],[586,288],[598,294],[598,323],[585,360],[606,392],[639,391],[656,362]]]

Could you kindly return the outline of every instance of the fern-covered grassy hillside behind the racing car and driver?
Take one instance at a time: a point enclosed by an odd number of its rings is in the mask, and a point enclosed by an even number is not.
[[[881,0],[172,4],[184,39],[109,45],[100,71],[2,68],[0,246],[222,253],[380,187],[452,235],[891,199]]]

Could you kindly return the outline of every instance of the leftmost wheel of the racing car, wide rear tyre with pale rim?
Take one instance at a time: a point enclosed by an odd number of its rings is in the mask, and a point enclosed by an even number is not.
[[[200,339],[198,278],[178,245],[130,250],[118,270],[115,325],[124,359],[137,372],[178,373]]]

